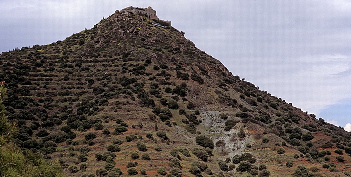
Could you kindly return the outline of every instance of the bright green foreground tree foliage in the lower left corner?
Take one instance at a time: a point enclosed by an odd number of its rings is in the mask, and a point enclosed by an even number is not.
[[[4,98],[7,89],[0,83],[0,175],[1,176],[64,176],[59,164],[47,161],[39,153],[22,151],[11,137],[17,131],[16,124],[10,123],[5,114]]]

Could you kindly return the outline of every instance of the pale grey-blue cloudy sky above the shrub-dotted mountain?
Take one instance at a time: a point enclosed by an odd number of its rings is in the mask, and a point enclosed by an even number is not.
[[[351,131],[351,1],[0,0],[0,52],[64,40],[128,6],[245,78]]]

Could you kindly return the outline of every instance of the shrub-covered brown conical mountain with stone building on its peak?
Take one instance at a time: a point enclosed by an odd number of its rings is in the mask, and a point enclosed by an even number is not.
[[[350,175],[350,133],[233,76],[153,11],[2,53],[16,143],[67,176]]]

